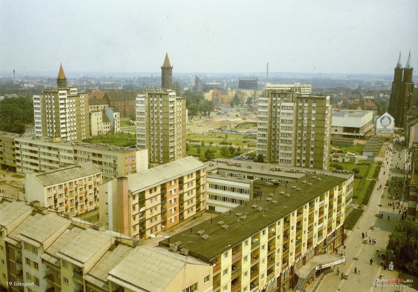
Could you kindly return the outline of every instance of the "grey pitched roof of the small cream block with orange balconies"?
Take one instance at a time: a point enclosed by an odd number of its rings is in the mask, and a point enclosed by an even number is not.
[[[93,162],[88,161],[65,168],[58,168],[44,173],[35,174],[34,176],[43,186],[51,186],[97,173],[102,173],[100,168]]]

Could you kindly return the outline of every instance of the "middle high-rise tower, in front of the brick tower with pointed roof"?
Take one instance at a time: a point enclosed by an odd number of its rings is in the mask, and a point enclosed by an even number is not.
[[[150,163],[186,155],[186,101],[168,89],[149,88],[136,98],[136,146],[148,149]]]

